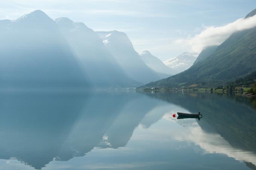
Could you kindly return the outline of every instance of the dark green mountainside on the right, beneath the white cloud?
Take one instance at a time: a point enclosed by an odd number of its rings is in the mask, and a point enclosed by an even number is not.
[[[255,14],[254,10],[247,17]],[[181,87],[192,84],[214,87],[256,71],[256,27],[235,32],[217,48],[212,48],[203,50],[198,61],[186,71],[149,83],[142,88]]]

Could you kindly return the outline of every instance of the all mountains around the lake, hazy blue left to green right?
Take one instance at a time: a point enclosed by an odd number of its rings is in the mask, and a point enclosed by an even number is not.
[[[0,87],[225,84],[256,71],[255,34],[255,27],[235,32],[221,45],[205,48],[198,57],[182,53],[162,62],[149,51],[138,54],[123,32],[94,32],[84,23],[69,18],[52,20],[37,10],[17,20],[0,20],[0,37],[5,40],[0,42]]]

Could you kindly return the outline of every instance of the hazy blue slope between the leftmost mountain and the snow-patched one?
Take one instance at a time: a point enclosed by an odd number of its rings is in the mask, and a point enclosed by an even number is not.
[[[101,38],[84,23],[69,18],[55,21],[96,87],[134,87],[140,84],[125,75]]]

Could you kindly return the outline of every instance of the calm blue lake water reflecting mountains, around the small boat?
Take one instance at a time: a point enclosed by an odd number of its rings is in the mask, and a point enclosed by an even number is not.
[[[253,104],[200,92],[1,92],[0,169],[256,169]]]

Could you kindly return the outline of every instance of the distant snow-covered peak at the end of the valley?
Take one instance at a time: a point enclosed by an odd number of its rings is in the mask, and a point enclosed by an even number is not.
[[[189,69],[196,59],[197,57],[194,57],[192,54],[184,52],[178,55],[175,59],[168,59],[163,61],[163,63],[179,73]]]

